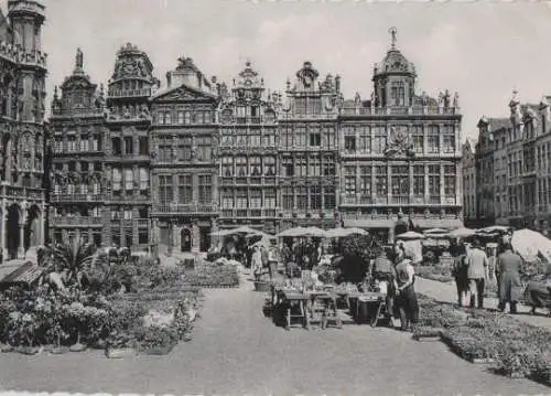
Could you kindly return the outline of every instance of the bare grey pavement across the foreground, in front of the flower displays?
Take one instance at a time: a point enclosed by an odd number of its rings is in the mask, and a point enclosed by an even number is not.
[[[287,332],[263,293],[206,290],[194,339],[168,356],[0,354],[0,389],[218,395],[518,395],[549,388],[467,363],[440,342],[368,325]],[[399,379],[398,379],[399,378]]]

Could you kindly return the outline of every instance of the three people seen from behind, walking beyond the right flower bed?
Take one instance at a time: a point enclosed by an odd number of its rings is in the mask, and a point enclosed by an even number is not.
[[[486,285],[491,280],[490,260],[479,239],[457,245],[452,268],[457,287],[457,304],[468,308],[484,308]],[[495,268],[498,293],[498,309],[505,311],[509,304],[510,313],[517,313],[517,304],[522,295],[520,275],[523,271],[522,258],[512,251],[510,238],[504,237]]]

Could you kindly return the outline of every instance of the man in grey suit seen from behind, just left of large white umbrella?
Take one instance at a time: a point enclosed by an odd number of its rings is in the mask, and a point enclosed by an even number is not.
[[[497,258],[499,274],[499,311],[505,311],[509,303],[510,313],[517,313],[517,303],[522,293],[520,272],[522,272],[522,258],[512,251],[510,243],[505,245],[505,251]]]

